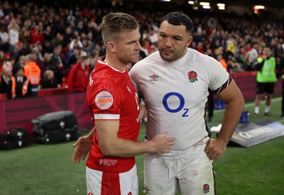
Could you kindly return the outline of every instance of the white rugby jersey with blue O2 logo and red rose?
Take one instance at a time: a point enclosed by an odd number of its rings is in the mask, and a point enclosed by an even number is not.
[[[208,89],[222,91],[229,84],[229,74],[217,60],[188,48],[180,60],[166,62],[157,51],[129,74],[148,111],[147,138],[165,131],[175,137],[171,152],[162,156],[180,155],[210,135],[204,119]]]

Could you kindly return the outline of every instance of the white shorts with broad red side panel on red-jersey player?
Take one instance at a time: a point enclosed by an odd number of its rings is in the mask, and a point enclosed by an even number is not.
[[[136,165],[128,172],[101,172],[86,168],[87,195],[137,195]]]

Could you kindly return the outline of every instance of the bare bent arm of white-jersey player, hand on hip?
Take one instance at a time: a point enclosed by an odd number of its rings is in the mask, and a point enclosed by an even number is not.
[[[244,97],[236,86],[234,80],[231,81],[228,87],[217,94],[219,99],[226,103],[222,128],[218,134],[218,138],[210,138],[205,152],[210,159],[218,160],[226,150],[226,145],[231,139],[236,126],[239,123],[241,113],[244,109]]]

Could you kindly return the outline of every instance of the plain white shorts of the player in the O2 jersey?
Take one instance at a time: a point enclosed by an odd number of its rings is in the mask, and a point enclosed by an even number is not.
[[[187,149],[182,157],[146,154],[144,192],[153,195],[215,194],[213,160],[204,152],[207,140]]]

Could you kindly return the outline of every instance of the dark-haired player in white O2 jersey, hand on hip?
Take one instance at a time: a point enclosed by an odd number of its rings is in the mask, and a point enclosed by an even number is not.
[[[168,131],[170,153],[147,153],[147,194],[215,194],[213,160],[226,150],[244,108],[244,98],[217,60],[188,48],[192,20],[180,12],[163,17],[158,51],[134,65],[130,77],[148,112],[148,139]],[[226,103],[218,138],[205,122],[208,89]]]

